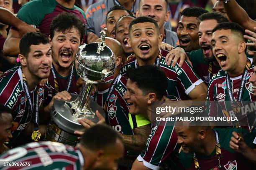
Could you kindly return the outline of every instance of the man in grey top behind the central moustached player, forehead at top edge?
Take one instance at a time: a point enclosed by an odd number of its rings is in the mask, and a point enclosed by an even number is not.
[[[159,26],[160,34],[163,35],[162,41],[176,47],[179,44],[176,32],[164,28],[164,22],[168,22],[170,15],[170,11],[168,11],[167,7],[167,0],[140,0],[136,16],[148,16],[153,18]]]

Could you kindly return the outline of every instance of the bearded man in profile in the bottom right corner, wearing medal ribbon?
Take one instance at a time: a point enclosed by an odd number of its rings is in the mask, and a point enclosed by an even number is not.
[[[237,137],[232,133],[245,133],[241,128],[216,128],[210,126],[175,126],[178,144],[182,145],[179,159],[186,170],[210,169],[246,169],[253,170],[253,160],[249,153],[236,153],[230,148],[230,138]],[[256,131],[244,136],[246,144],[255,147],[253,140]],[[238,138],[237,138],[238,139]],[[240,140],[240,139],[239,139]],[[255,151],[254,151],[255,152]],[[251,157],[251,158],[250,158]]]

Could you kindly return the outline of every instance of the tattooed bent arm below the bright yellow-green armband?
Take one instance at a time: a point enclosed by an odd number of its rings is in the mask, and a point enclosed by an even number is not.
[[[146,145],[146,141],[150,132],[151,127],[149,124],[135,128],[133,130],[134,135],[120,135],[123,138],[125,148],[127,148],[128,150],[141,152],[141,150],[143,150],[144,146]]]

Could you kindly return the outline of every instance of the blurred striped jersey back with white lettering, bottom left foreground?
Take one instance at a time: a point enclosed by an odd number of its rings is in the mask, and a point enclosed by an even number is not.
[[[26,166],[15,166],[17,170],[80,170],[84,158],[75,147],[45,141],[28,143],[0,155],[0,167],[3,170],[16,169],[3,166],[3,162],[29,163]]]

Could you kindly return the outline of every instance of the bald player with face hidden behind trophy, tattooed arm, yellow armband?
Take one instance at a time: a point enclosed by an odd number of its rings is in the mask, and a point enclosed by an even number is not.
[[[96,40],[96,42],[100,42],[100,39]],[[120,42],[110,37],[105,37],[105,43],[115,54],[116,70],[114,72],[114,80],[110,83],[98,84],[97,90],[93,95],[93,100],[103,107],[106,113],[105,121],[103,117],[100,117],[100,114],[97,114],[99,117],[98,123],[106,122],[115,131],[119,132],[125,145],[125,155],[129,153],[135,159],[146,144],[151,131],[150,122],[145,120],[145,117],[132,116],[131,120],[134,126],[133,128],[131,127],[128,105],[123,99],[123,95],[127,90],[127,79],[120,75],[123,48]],[[84,128],[90,128],[95,124],[87,119],[79,120],[79,122]],[[80,132],[75,133],[82,134]],[[133,163],[133,161],[125,161],[125,165],[132,165]]]

